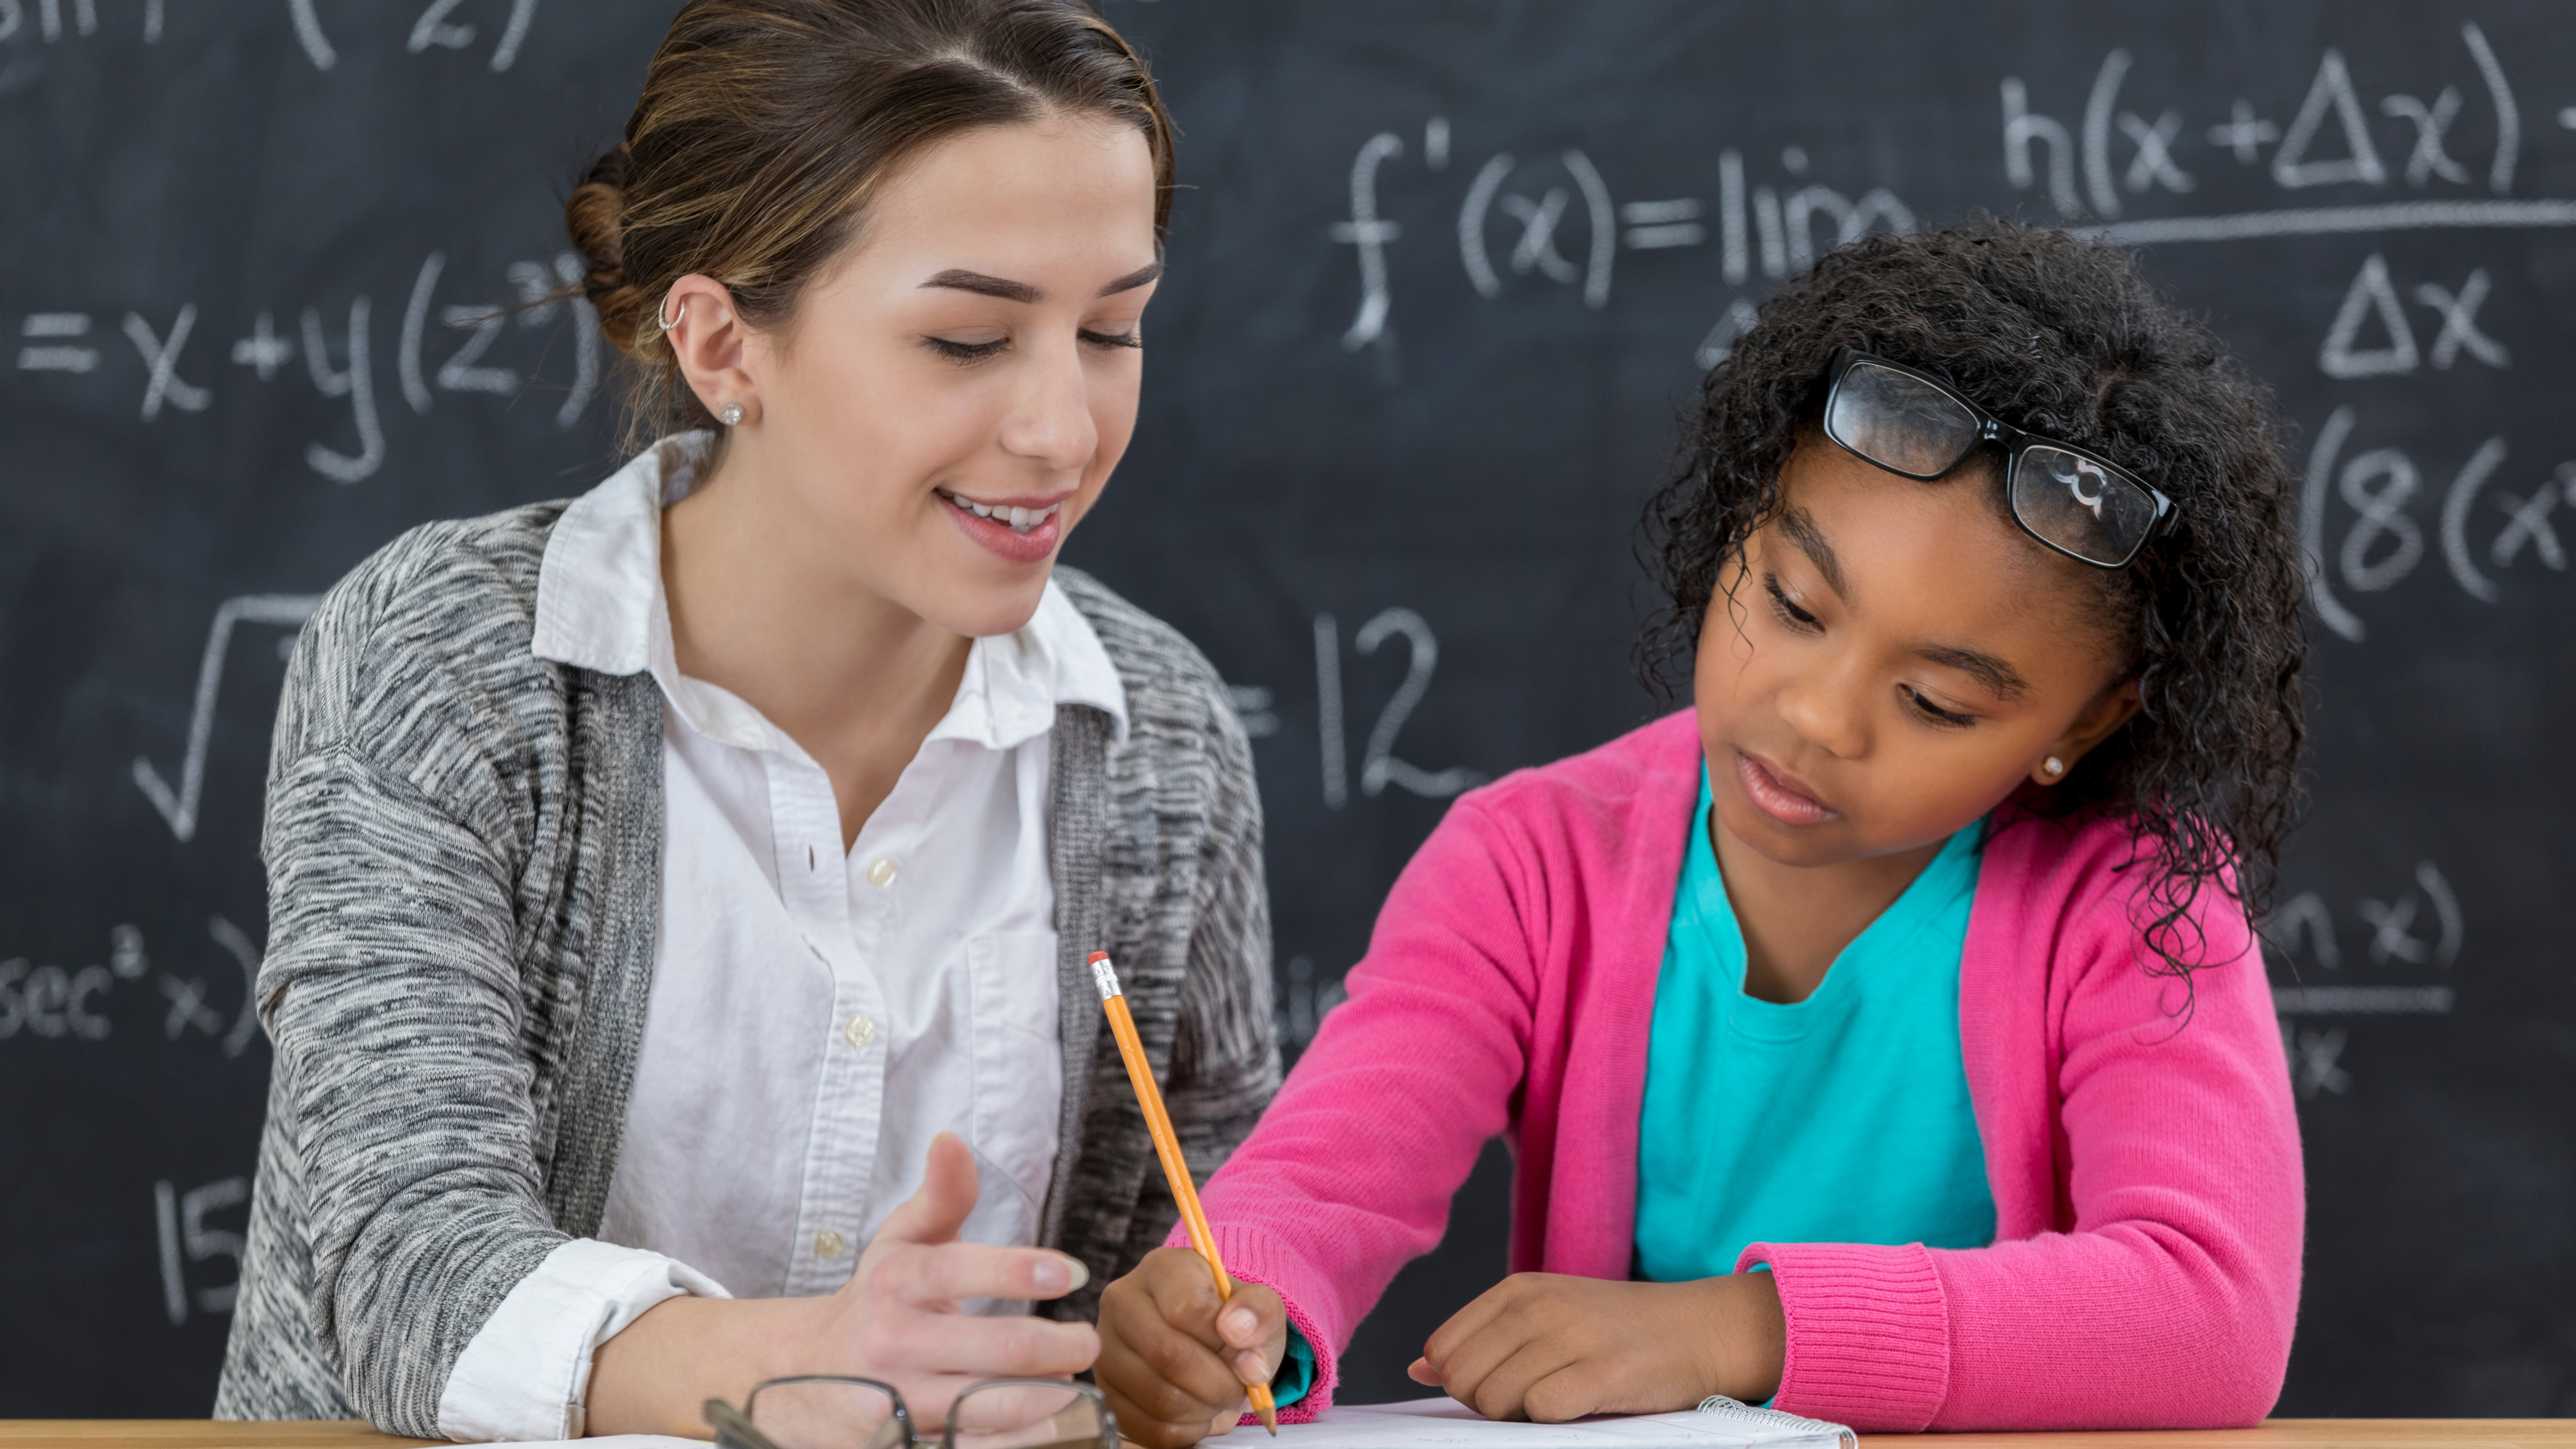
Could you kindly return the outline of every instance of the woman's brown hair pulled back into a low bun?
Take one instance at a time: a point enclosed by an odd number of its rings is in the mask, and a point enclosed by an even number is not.
[[[855,232],[930,142],[1046,116],[1144,131],[1154,240],[1172,217],[1172,119],[1144,59],[1082,0],[690,0],[626,139],[564,204],[582,294],[626,358],[629,441],[708,428],[654,312],[706,273],[755,327]]]

